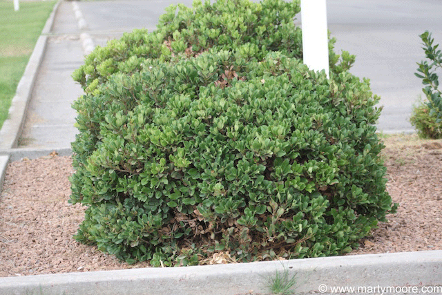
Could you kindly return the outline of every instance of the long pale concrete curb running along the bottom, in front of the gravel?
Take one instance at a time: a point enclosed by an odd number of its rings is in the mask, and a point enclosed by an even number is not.
[[[442,251],[10,277],[0,278],[0,293],[267,294],[271,278],[284,272],[296,275],[296,293],[340,286],[442,286]]]

